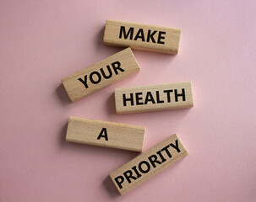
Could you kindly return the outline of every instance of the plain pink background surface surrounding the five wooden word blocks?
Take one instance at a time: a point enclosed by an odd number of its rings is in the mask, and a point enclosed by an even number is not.
[[[0,201],[255,201],[255,8],[243,1],[0,3]],[[182,29],[177,56],[134,50],[139,74],[70,103],[61,78],[121,48],[106,19]],[[194,107],[115,114],[117,87],[192,81]],[[65,141],[68,116],[177,133],[188,157],[126,195],[108,173],[138,154]]]

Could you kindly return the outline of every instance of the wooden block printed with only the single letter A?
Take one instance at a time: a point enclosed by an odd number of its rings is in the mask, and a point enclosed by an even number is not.
[[[66,141],[142,151],[145,127],[70,116]]]

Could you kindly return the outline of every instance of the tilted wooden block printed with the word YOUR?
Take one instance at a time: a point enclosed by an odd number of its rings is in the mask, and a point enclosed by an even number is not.
[[[63,78],[62,82],[68,97],[74,102],[135,72],[139,72],[139,66],[132,50],[127,48]]]

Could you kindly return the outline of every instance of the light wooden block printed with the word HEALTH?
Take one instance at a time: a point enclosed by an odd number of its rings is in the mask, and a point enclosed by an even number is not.
[[[193,107],[191,82],[115,89],[117,114]]]

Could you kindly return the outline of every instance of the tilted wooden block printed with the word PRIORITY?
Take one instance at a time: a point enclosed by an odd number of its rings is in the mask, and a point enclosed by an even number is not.
[[[176,135],[172,135],[112,171],[110,177],[119,193],[123,195],[187,155],[182,142]]]

